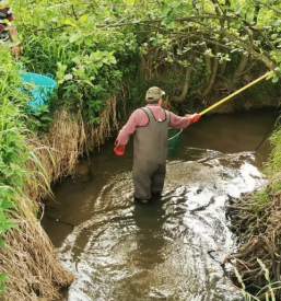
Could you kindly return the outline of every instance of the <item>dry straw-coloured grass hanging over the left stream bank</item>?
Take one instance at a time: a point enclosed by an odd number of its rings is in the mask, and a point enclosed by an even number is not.
[[[99,118],[98,126],[87,125],[80,116],[61,109],[55,113],[48,134],[27,138],[38,162],[27,160],[31,181],[25,183],[26,198],[19,199],[23,213],[11,216],[17,227],[7,231],[5,247],[0,248],[0,274],[8,273],[4,301],[58,300],[61,288],[73,282],[74,276],[59,263],[57,251],[40,225],[40,201],[51,196],[51,183],[73,174],[78,159],[103,144],[118,128],[115,95]]]

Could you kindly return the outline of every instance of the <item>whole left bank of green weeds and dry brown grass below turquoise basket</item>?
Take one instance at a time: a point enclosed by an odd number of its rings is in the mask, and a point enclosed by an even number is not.
[[[33,132],[28,129],[27,99],[17,65],[9,51],[1,53],[0,58],[0,78],[4,79],[0,130],[1,289],[4,300],[54,300],[73,276],[59,264],[40,228],[44,211],[38,200],[50,194],[50,183],[71,174],[78,158],[103,143],[117,127],[116,99],[107,100],[99,126],[93,127],[61,108],[51,115],[48,134]]]

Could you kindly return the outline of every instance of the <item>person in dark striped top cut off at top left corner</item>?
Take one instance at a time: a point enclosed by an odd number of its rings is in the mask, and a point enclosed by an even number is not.
[[[0,42],[4,43],[8,47],[12,48],[12,53],[19,57],[20,47],[19,45],[12,45],[17,40],[17,31],[15,26],[11,25],[14,20],[12,9],[3,8],[3,1],[0,0]]]

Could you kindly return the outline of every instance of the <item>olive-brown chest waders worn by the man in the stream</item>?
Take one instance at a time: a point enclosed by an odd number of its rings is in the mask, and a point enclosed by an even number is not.
[[[149,123],[134,131],[132,180],[134,197],[150,199],[152,194],[161,194],[164,186],[169,114],[165,111],[165,120],[155,120],[148,107],[142,109]]]

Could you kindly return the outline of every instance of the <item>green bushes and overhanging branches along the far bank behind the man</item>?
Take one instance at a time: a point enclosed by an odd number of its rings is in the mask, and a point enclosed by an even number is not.
[[[257,62],[274,69],[272,81],[278,81],[281,9],[277,1],[11,3],[19,11],[27,69],[56,74],[60,85],[54,106],[82,109],[93,124],[98,124],[98,111],[112,94],[127,92],[133,107],[153,81],[165,86],[172,103],[204,100],[218,76],[219,90],[230,93],[245,73],[256,70]]]

